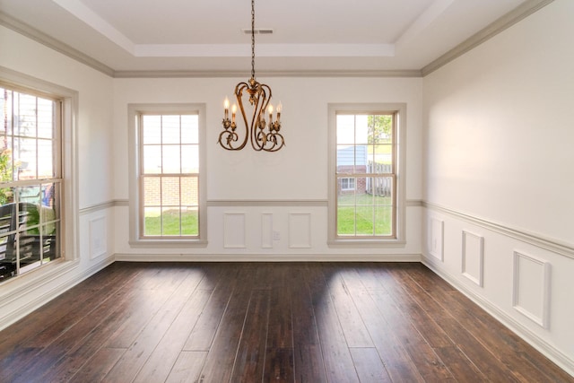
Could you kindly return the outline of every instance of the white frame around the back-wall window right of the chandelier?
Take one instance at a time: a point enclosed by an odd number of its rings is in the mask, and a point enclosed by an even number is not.
[[[338,112],[357,114],[396,114],[395,137],[395,171],[396,171],[396,217],[394,238],[361,238],[359,236],[338,236],[336,227],[337,217],[337,143],[336,143],[336,115]],[[404,247],[405,240],[405,170],[406,170],[406,104],[405,103],[342,103],[328,104],[328,160],[327,160],[327,190],[328,190],[328,228],[327,245],[331,248],[347,247]]]

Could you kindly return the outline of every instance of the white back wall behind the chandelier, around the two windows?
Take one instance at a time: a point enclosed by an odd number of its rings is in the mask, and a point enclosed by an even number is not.
[[[246,68],[247,69],[247,68]],[[248,75],[246,71],[246,75]],[[222,101],[232,95],[235,85],[248,78],[176,78],[116,79],[114,82],[114,130],[116,168],[116,199],[128,198],[127,184],[127,105],[129,103],[206,103],[207,109],[207,248],[160,249],[145,251],[130,248],[127,237],[127,206],[117,213],[117,254],[122,259],[137,256],[154,258],[160,253],[174,255],[210,255],[207,259],[275,259],[309,258],[309,255],[361,259],[419,259],[421,253],[420,206],[407,208],[407,245],[403,248],[346,248],[326,246],[327,226],[327,104],[344,102],[405,102],[407,104],[406,198],[420,201],[421,190],[421,102],[420,78],[261,78],[271,86],[274,102],[283,103],[282,134],[286,146],[279,152],[255,152],[250,148],[239,152],[223,150],[217,143],[222,130]],[[249,200],[246,205],[243,202]],[[279,200],[276,205],[251,202]],[[218,205],[225,201],[227,205]],[[237,205],[233,202],[237,201]],[[301,203],[303,201],[304,203]],[[311,204],[309,205],[309,201]],[[288,206],[285,206],[287,204]],[[414,204],[416,205],[416,204]],[[226,213],[244,213],[245,246],[230,248],[222,233]],[[280,239],[272,248],[262,247],[262,215],[273,214],[274,231]],[[289,224],[291,213],[308,213],[312,243],[294,246]],[[229,217],[228,217],[229,218]],[[247,223],[246,223],[247,224]],[[292,222],[291,222],[292,224]],[[243,229],[240,229],[243,230]],[[350,257],[347,257],[351,255]],[[395,257],[397,254],[412,257]],[[171,256],[175,257],[175,256]],[[179,256],[178,256],[179,257]],[[185,258],[185,257],[184,257]],[[187,257],[197,259],[198,257]],[[363,257],[364,258],[364,257]]]

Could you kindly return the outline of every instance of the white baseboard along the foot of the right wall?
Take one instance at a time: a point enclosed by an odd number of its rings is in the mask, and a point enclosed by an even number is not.
[[[440,278],[450,283],[459,292],[462,292],[469,300],[474,301],[474,303],[488,312],[492,317],[496,318],[502,325],[507,326],[510,331],[522,338],[527,344],[532,345],[537,351],[543,353],[546,358],[556,363],[562,370],[565,370],[574,377],[574,361],[570,360],[567,355],[561,353],[560,350],[553,347],[552,344],[549,344],[540,336],[535,335],[535,333],[526,328],[526,326],[521,325],[507,313],[492,305],[488,300],[485,300],[480,295],[466,288],[463,283],[459,283],[455,276],[442,270],[440,265],[438,265],[439,260],[435,261],[431,257],[425,256],[422,256],[421,258],[422,264],[429,267],[433,273],[439,275]]]

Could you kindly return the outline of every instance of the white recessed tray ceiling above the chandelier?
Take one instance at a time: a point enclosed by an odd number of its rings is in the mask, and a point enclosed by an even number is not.
[[[420,71],[540,0],[257,0],[256,71]],[[122,71],[250,71],[249,0],[0,0],[2,20]],[[10,24],[8,22],[7,24]]]

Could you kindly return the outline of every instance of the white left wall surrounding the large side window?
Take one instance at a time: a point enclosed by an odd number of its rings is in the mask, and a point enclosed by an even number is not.
[[[50,264],[0,284],[3,328],[113,261],[114,222],[112,209],[106,203],[113,196],[114,163],[112,79],[2,26],[0,47],[0,66],[7,71],[78,93],[76,158],[65,159],[74,162],[74,185],[70,188],[77,190],[74,211],[67,211],[65,219],[77,222],[76,231],[66,233],[66,242],[70,242],[66,262]],[[105,229],[103,222],[108,225]]]

